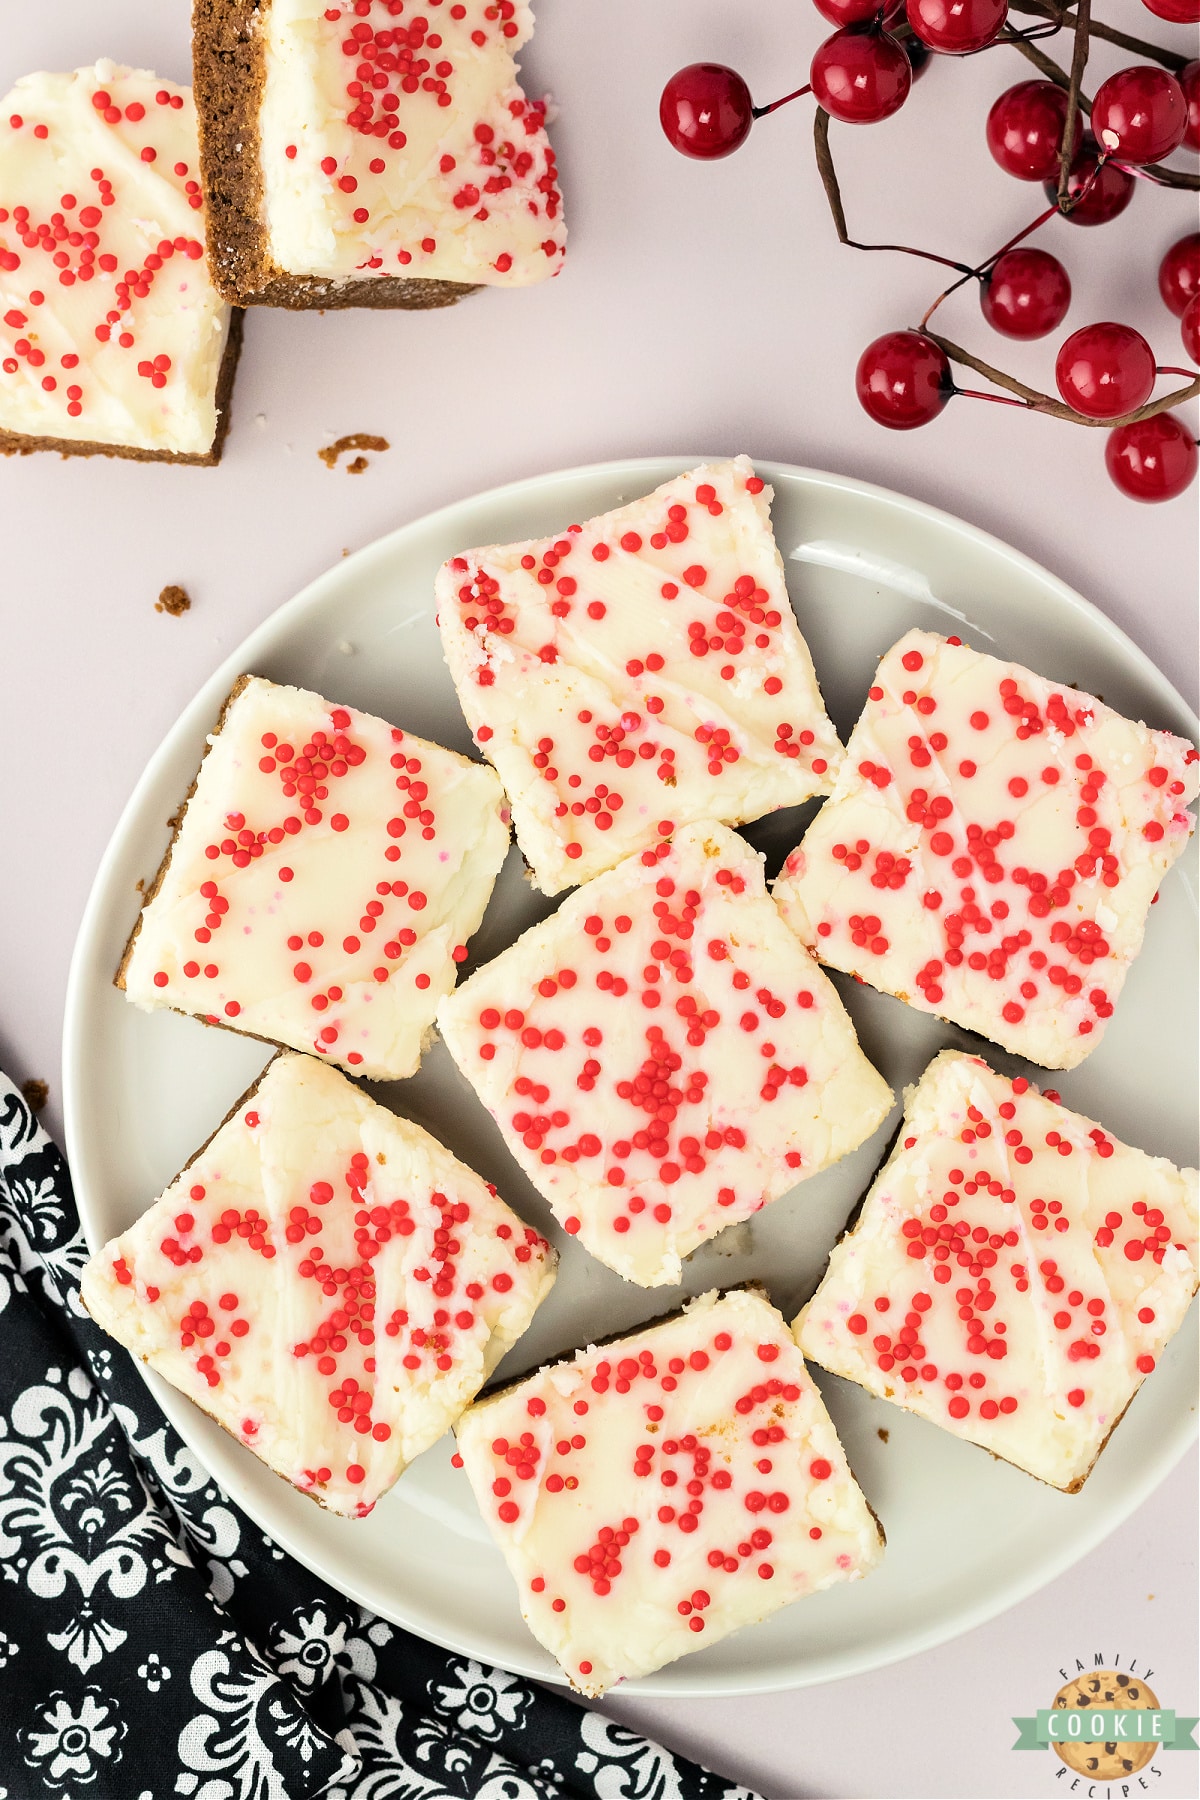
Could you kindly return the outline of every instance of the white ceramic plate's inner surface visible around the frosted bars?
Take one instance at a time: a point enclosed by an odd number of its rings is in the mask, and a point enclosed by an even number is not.
[[[470,751],[434,625],[439,563],[477,544],[561,531],[698,461],[640,459],[569,470],[405,526],[282,607],[196,695],[149,763],[108,846],[70,974],[67,1143],[94,1247],[137,1219],[268,1055],[250,1039],[175,1013],[142,1013],[112,986],[139,907],[135,884],[162,857],[167,817],[234,679],[250,670],[299,682]],[[910,625],[921,625],[959,630],[979,648],[1016,657],[1101,695],[1133,718],[1195,738],[1196,722],[1146,657],[1016,551],[864,482],[763,463],[759,472],[775,488],[774,524],[788,558],[792,598],[842,734],[858,713],[878,655]],[[801,835],[804,817],[775,814],[747,835],[777,862]],[[1196,1159],[1193,868],[1186,859],[1164,884],[1146,949],[1101,1048],[1083,1067],[1052,1078],[1069,1105],[1177,1163]],[[534,896],[522,878],[513,851],[475,956],[495,954],[549,911],[551,902]],[[939,1048],[979,1048],[977,1039],[900,1001],[835,979],[867,1055],[898,1091]],[[1016,1073],[1013,1058],[999,1049],[990,1055]],[[757,1278],[792,1316],[815,1287],[894,1129],[892,1120],[837,1168],[696,1251],[678,1292],[651,1292],[563,1242],[488,1114],[464,1100],[441,1046],[410,1082],[376,1093],[497,1181],[563,1253],[558,1285],[504,1373],[633,1327],[676,1305],[680,1294],[716,1283]],[[786,1607],[763,1625],[684,1658],[637,1683],[639,1690],[747,1694],[856,1674],[952,1638],[1033,1593],[1128,1517],[1184,1453],[1195,1431],[1195,1363],[1193,1309],[1096,1474],[1072,1498],[860,1388],[822,1377],[851,1463],[887,1528],[883,1566],[860,1584]],[[437,1643],[560,1679],[522,1624],[515,1586],[466,1478],[450,1465],[450,1438],[421,1456],[369,1519],[351,1523],[286,1487],[175,1388],[151,1373],[146,1379],[227,1492],[335,1588]]]

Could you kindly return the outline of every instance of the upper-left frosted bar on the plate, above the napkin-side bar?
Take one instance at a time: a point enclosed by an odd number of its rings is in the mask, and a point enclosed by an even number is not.
[[[243,675],[117,986],[398,1080],[421,1060],[507,844],[489,769]]]

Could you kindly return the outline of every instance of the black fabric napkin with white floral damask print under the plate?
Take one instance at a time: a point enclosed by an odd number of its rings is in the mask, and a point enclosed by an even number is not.
[[[0,1076],[0,1800],[756,1800],[284,1555],[81,1310],[85,1260]]]

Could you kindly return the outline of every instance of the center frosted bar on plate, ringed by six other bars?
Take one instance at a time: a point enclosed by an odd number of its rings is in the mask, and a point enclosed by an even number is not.
[[[642,1287],[892,1103],[763,859],[720,824],[570,895],[437,1028],[563,1229]]]

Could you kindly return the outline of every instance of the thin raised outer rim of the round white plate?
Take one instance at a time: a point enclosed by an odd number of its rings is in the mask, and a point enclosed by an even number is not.
[[[671,479],[671,475],[680,473],[687,468],[696,468],[702,463],[727,461],[727,455],[642,455],[642,457],[610,457],[601,463],[581,463],[570,468],[552,468],[536,475],[524,475],[516,481],[500,482],[493,488],[484,488],[475,493],[462,495],[455,500],[448,500],[443,506],[419,513],[416,518],[405,520],[394,526],[390,531],[369,544],[353,551],[349,556],[340,558],[327,569],[320,571],[311,581],[308,581],[297,594],[275,607],[230,650],[230,653],[203,679],[193,698],[185,704],[182,713],[167,727],[166,734],[158,742],[157,749],[151,752],[146,767],[142,769],[133,790],[121,808],[121,814],[112,828],[104,851],[95,868],[88,896],[79,918],[79,927],[76,932],[76,943],[70,956],[70,967],[67,976],[67,999],[63,1010],[63,1057],[61,1057],[61,1080],[63,1080],[63,1129],[65,1129],[65,1154],[67,1165],[72,1175],[76,1190],[76,1204],[79,1211],[79,1222],[83,1228],[85,1242],[90,1251],[95,1251],[103,1238],[97,1238],[92,1222],[90,1190],[88,1190],[88,1156],[83,1145],[79,1112],[81,1112],[81,1093],[86,1080],[86,1053],[83,1040],[83,1019],[88,1004],[88,983],[90,983],[90,965],[97,961],[97,938],[103,931],[103,911],[108,896],[108,887],[112,880],[113,864],[124,851],[124,841],[131,830],[135,830],[137,821],[144,810],[144,796],[158,781],[164,765],[167,765],[178,747],[187,738],[193,738],[198,725],[216,716],[216,706],[228,693],[236,675],[245,673],[252,666],[254,659],[275,646],[281,632],[286,635],[290,626],[304,619],[311,612],[318,610],[326,601],[327,589],[338,589],[347,578],[353,581],[354,576],[369,569],[372,563],[390,558],[390,554],[403,547],[403,540],[410,535],[425,533],[428,529],[437,529],[443,520],[452,515],[461,513],[464,508],[482,508],[506,502],[520,502],[527,497],[543,497],[552,502],[554,493],[567,488],[578,481],[644,481],[646,491],[658,486],[662,481]],[[819,470],[799,463],[783,463],[770,457],[752,457],[756,472],[763,475],[772,486],[775,482],[788,481],[801,486],[810,486],[817,490],[833,490],[838,493],[856,495],[867,502],[883,504],[887,508],[898,508],[901,513],[916,515],[923,520],[934,524],[939,531],[950,536],[963,538],[986,549],[990,554],[999,556],[1000,562],[1020,569],[1024,574],[1033,576],[1036,581],[1049,585],[1056,590],[1060,601],[1083,619],[1088,621],[1092,628],[1099,630],[1099,635],[1108,641],[1114,652],[1123,655],[1130,664],[1139,680],[1153,689],[1168,715],[1175,715],[1173,722],[1159,725],[1159,729],[1186,731],[1193,742],[1200,740],[1200,720],[1191,711],[1184,697],[1178,693],[1171,679],[1159,668],[1157,662],[1124,632],[1114,619],[1110,619],[1094,601],[1087,599],[1067,581],[1049,571],[1036,558],[1015,545],[1004,542],[1004,538],[995,536],[981,526],[973,526],[955,513],[948,513],[939,506],[932,506],[927,500],[918,500],[912,495],[905,495],[894,488],[885,488],[878,482],[860,481],[855,475],[842,475],[831,470]],[[642,491],[639,488],[639,491]],[[786,547],[779,547],[784,562],[790,553]],[[432,596],[430,596],[432,598]],[[205,725],[207,729],[207,725]],[[1189,896],[1195,907],[1195,895]],[[268,1046],[263,1044],[264,1053]],[[335,1591],[347,1595],[351,1600],[369,1607],[371,1611],[381,1611],[378,1595],[372,1593],[369,1584],[358,1584],[347,1580],[342,1571],[336,1575],[322,1564],[318,1555],[311,1550],[300,1548],[293,1539],[288,1521],[282,1525],[272,1516],[270,1507],[261,1510],[257,1505],[257,1496],[252,1492],[246,1481],[243,1481],[236,1471],[234,1474],[214,1476],[209,1471],[205,1456],[196,1447],[196,1440],[191,1435],[189,1426],[194,1422],[194,1409],[180,1390],[173,1388],[162,1375],[148,1368],[139,1359],[133,1364],[140,1377],[146,1381],[153,1399],[158,1402],[173,1427],[184,1438],[189,1453],[196,1458],[198,1465],[205,1471],[209,1480],[212,1480],[218,1489],[223,1489],[230,1499],[268,1535],[279,1543],[290,1555],[293,1555],[304,1568],[315,1573],[320,1580],[329,1582]],[[1177,1433],[1169,1438],[1162,1451],[1155,1458],[1148,1458],[1142,1463],[1141,1474],[1135,1476],[1121,1498],[1119,1508],[1106,1512],[1103,1517],[1090,1523],[1090,1528],[1083,1528],[1070,1543],[1069,1553],[1051,1557],[1049,1562],[1038,1564],[1025,1579],[1013,1580],[1002,1598],[988,1595],[975,1606],[968,1606],[954,1613],[952,1620],[937,1620],[925,1629],[909,1625],[905,1629],[903,1642],[894,1642],[883,1649],[864,1649],[864,1647],[846,1647],[840,1652],[826,1654],[817,1670],[774,1670],[774,1672],[745,1672],[738,1676],[725,1678],[705,1678],[689,1679],[689,1667],[693,1660],[687,1658],[682,1663],[667,1665],[676,1670],[669,1679],[660,1679],[660,1672],[644,1676],[637,1681],[622,1683],[612,1692],[628,1692],[644,1699],[658,1697],[732,1697],[747,1694],[772,1694],[786,1692],[792,1688],[817,1687],[826,1681],[846,1679],[847,1676],[869,1674],[874,1669],[887,1669],[898,1661],[910,1656],[918,1656],[923,1651],[934,1649],[941,1643],[954,1642],[964,1636],[968,1631],[988,1624],[991,1618],[1000,1616],[1009,1607],[1018,1606],[1027,1600],[1033,1593],[1038,1593],[1051,1580],[1067,1573],[1074,1568],[1081,1557],[1094,1550],[1105,1537],[1115,1532],[1144,1501],[1153,1494],[1153,1490],[1173,1472],[1173,1469],[1182,1462],[1182,1458],[1191,1449],[1198,1431],[1196,1411],[1193,1409],[1191,1420],[1180,1420]],[[479,1656],[488,1663],[495,1661],[495,1652],[482,1634],[455,1629],[439,1629],[437,1634],[430,1629],[430,1622],[421,1618],[414,1624],[410,1618],[399,1615],[396,1607],[390,1607],[383,1616],[392,1618],[407,1631],[414,1631],[419,1636],[430,1638],[430,1642],[439,1643],[457,1654]],[[547,1652],[531,1636],[529,1640],[531,1654],[527,1658],[509,1658],[506,1667],[513,1672],[538,1679],[554,1687],[567,1688],[567,1678],[558,1669],[558,1665],[543,1661]],[[542,1652],[536,1658],[533,1652]],[[678,1670],[684,1670],[680,1681]]]

